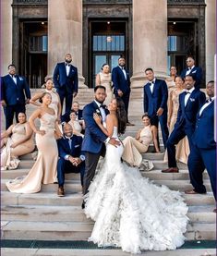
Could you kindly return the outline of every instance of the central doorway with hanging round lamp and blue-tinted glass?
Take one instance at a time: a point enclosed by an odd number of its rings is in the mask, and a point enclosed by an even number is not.
[[[95,86],[96,74],[107,63],[111,70],[117,66],[118,58],[125,56],[127,62],[127,21],[90,21],[90,74],[89,85]]]

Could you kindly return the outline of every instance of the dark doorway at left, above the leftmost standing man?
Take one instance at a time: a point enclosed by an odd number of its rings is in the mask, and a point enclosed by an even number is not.
[[[40,88],[47,75],[47,22],[45,20],[23,21],[21,46],[22,73],[30,88]]]

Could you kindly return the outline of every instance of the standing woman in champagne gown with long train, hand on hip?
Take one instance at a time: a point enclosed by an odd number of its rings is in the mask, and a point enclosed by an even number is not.
[[[51,102],[51,94],[44,92],[42,94],[42,106],[30,116],[30,127],[36,133],[38,157],[27,177],[18,177],[6,182],[6,187],[11,192],[37,193],[41,190],[42,184],[56,182],[58,149],[54,136],[59,136],[60,131],[56,123],[54,109],[49,107]],[[41,126],[39,129],[34,124],[36,118],[40,119]]]

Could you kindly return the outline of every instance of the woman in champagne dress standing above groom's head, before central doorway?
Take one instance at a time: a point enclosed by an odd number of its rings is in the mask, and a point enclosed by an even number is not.
[[[96,75],[96,86],[97,85],[102,85],[105,87],[107,97],[105,98],[104,104],[110,104],[114,98],[114,94],[112,91],[112,77],[108,64],[103,64],[102,71]]]

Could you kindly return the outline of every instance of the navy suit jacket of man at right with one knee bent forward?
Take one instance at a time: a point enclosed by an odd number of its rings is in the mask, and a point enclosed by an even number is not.
[[[179,94],[179,108],[175,128],[183,127],[185,129],[194,130],[196,124],[196,116],[200,107],[205,103],[205,93],[199,90],[191,92],[185,106],[186,91]]]

